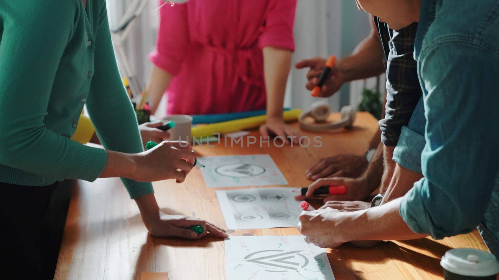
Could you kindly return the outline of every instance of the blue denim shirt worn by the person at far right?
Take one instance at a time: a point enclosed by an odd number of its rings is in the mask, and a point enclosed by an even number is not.
[[[400,214],[436,239],[480,224],[498,256],[499,2],[423,0],[415,58],[423,98],[394,159],[418,171],[421,152],[425,177],[403,197]]]

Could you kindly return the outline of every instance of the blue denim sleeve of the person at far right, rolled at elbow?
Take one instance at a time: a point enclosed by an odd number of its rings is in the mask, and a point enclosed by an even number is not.
[[[441,239],[482,220],[499,168],[499,59],[472,43],[440,42],[420,55],[425,178],[399,212],[417,233]]]

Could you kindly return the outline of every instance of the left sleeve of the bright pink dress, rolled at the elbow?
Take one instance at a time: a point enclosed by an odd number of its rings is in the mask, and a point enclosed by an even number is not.
[[[163,0],[159,0],[160,5],[164,3]],[[154,65],[173,76],[180,72],[189,42],[188,4],[188,2],[174,6],[166,4],[159,9],[160,24],[156,50],[148,56]]]

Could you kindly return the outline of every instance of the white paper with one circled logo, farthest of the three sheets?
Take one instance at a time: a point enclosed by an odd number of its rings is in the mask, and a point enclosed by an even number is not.
[[[209,188],[287,185],[268,154],[198,157],[206,167],[201,173]]]

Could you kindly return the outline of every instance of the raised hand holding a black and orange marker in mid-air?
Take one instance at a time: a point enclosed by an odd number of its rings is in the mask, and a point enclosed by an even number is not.
[[[338,63],[336,63],[335,66],[331,69],[331,72],[324,82],[324,85],[321,87],[320,94],[317,97],[329,97],[333,95],[341,88],[341,86],[345,82],[344,75],[336,67],[337,65]],[[319,82],[319,76],[320,74],[322,74],[322,71],[326,67],[326,59],[322,57],[304,59],[298,61],[295,64],[295,67],[297,69],[303,69],[306,67],[310,68],[307,73],[308,82],[305,87],[307,88],[307,90],[312,90],[315,86],[317,86],[317,83]]]

